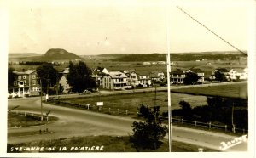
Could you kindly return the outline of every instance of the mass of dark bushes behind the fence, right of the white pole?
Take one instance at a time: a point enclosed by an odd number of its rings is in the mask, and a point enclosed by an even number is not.
[[[194,108],[186,101],[180,101],[180,109],[172,110],[172,116],[182,116],[185,120],[223,123],[248,127],[247,99],[223,99],[207,97],[207,105]]]

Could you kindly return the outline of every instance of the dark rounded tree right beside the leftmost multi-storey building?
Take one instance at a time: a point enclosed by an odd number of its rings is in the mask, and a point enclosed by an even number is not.
[[[47,87],[54,86],[56,84],[57,71],[48,63],[38,66],[37,68],[38,82],[42,82],[42,92],[47,92]]]

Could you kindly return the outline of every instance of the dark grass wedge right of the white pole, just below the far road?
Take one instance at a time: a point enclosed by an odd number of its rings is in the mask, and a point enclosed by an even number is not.
[[[247,99],[247,82],[209,87],[189,87],[172,89],[172,92]]]

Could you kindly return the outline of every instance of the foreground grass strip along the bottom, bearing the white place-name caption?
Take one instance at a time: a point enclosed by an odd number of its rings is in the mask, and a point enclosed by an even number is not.
[[[44,150],[41,152],[168,152],[168,142],[166,140],[164,140],[163,144],[157,150],[136,150],[130,143],[129,137],[113,136],[60,138],[26,144],[8,144],[7,152],[19,152],[15,150],[15,147],[22,147],[23,151],[20,152],[38,152],[37,150],[26,150],[26,147],[35,146],[44,147]],[[89,150],[89,148],[92,149],[92,146],[95,146],[94,150]],[[174,152],[197,152],[198,149],[201,148],[201,146],[184,144],[176,141],[173,141],[172,146]],[[77,150],[75,147],[77,147]],[[84,149],[82,147],[84,147]],[[85,150],[86,147],[87,150]],[[204,151],[214,152],[217,150],[204,148]]]

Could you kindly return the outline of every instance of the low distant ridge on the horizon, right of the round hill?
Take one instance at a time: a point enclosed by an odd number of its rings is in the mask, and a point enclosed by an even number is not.
[[[171,54],[172,61],[193,61],[193,60],[237,60],[246,57],[244,54]],[[127,54],[122,55],[113,61],[166,61],[166,54]]]

